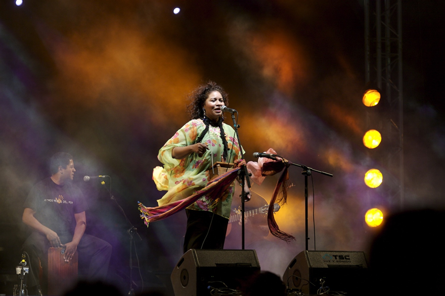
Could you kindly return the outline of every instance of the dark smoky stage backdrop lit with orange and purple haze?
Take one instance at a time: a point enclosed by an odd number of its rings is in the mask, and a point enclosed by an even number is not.
[[[402,3],[405,209],[444,206],[444,6]],[[239,111],[247,161],[274,148],[334,175],[313,175],[317,250],[365,251],[375,232],[363,221],[366,210],[389,215],[401,207],[385,176],[377,189],[363,184],[363,15],[357,0],[25,0],[19,7],[2,0],[1,273],[13,273],[20,259],[24,199],[49,176],[49,157],[66,151],[74,156],[74,183],[88,198],[87,232],[114,247],[110,278],[125,290],[130,227],[109,198],[111,186],[142,238],[135,245],[145,287],[168,286],[185,215],[147,228],[137,202],[155,206],[163,195],[151,179],[161,165],[157,152],[187,121],[186,95],[209,79],[223,85]],[[275,215],[296,240],[269,235],[251,245],[262,269],[280,276],[304,250],[300,171],[291,169],[288,204]],[[109,175],[112,183],[84,183],[85,175]],[[270,177],[253,190],[268,201],[275,182]],[[310,237],[312,249],[312,229]]]

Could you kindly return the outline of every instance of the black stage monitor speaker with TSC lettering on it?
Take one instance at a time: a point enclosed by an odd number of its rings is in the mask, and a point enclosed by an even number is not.
[[[311,295],[317,294],[322,281],[329,287],[328,294],[355,296],[369,291],[365,255],[355,251],[303,251],[289,263],[283,281],[288,288]]]

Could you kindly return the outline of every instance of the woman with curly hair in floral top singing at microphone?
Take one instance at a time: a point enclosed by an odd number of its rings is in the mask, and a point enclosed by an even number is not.
[[[159,150],[164,170],[154,172],[153,179],[158,189],[168,190],[158,200],[160,206],[203,188],[210,181],[206,171],[217,161],[233,163],[241,158],[235,131],[223,123],[221,107],[228,103],[223,88],[210,81],[195,89],[190,99],[187,108],[191,120]],[[247,184],[244,191],[250,195]],[[189,249],[223,249],[233,192],[232,184],[219,198],[203,196],[185,210],[184,253]]]

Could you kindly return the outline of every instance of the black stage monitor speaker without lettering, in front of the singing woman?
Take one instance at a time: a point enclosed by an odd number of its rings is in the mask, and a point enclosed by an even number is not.
[[[207,296],[209,286],[237,289],[245,279],[260,272],[255,250],[188,250],[173,269],[176,296]],[[213,282],[213,283],[212,283]]]

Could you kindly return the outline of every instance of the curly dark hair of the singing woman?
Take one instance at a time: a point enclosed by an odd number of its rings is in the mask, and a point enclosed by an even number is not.
[[[187,112],[190,119],[199,119],[204,117],[204,102],[207,100],[209,94],[213,91],[219,91],[223,97],[224,105],[228,106],[228,95],[224,91],[223,87],[216,82],[209,81],[206,84],[199,85],[191,94],[188,95],[188,99],[191,101],[190,104],[187,105]]]

